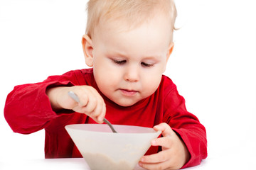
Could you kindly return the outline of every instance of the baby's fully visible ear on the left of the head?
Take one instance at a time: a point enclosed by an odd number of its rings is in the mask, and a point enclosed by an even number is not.
[[[93,55],[92,55],[92,39],[88,35],[82,36],[82,50],[85,55],[85,63],[87,66],[92,67],[93,66]]]

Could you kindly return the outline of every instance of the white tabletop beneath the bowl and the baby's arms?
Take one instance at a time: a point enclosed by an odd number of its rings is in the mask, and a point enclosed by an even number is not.
[[[90,170],[83,158],[67,159],[6,159],[0,160],[0,169],[26,169],[26,170]],[[188,170],[216,170],[216,169],[256,169],[256,157],[228,155],[226,157],[208,157],[198,166]],[[120,169],[122,170],[122,169]],[[135,170],[142,170],[136,166]]]

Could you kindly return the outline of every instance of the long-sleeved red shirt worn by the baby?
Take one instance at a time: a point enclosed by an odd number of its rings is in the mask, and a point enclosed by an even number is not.
[[[75,147],[65,125],[95,123],[85,114],[63,110],[55,113],[46,89],[53,86],[93,86],[105,100],[105,118],[112,124],[138,125],[152,128],[159,123],[167,123],[185,142],[191,154],[189,162],[183,166],[195,166],[207,157],[206,129],[195,115],[186,111],[185,100],[178,94],[176,85],[162,76],[159,88],[133,106],[122,107],[110,101],[97,88],[92,69],[67,72],[61,76],[51,76],[36,84],[15,86],[6,98],[4,115],[14,132],[29,134],[41,129],[46,130],[46,158],[82,157]],[[158,152],[151,147],[146,154]]]

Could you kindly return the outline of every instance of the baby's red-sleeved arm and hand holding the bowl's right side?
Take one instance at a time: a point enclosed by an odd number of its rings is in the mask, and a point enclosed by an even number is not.
[[[185,100],[178,94],[172,81],[166,89],[168,91],[163,93],[165,94],[163,97],[164,124],[155,127],[160,130],[164,128],[162,134],[164,137],[159,138],[161,143],[156,140],[156,143],[152,144],[161,146],[163,151],[151,155],[152,157],[142,157],[141,163],[144,162],[142,166],[148,169],[196,166],[207,157],[206,128],[195,115],[186,111]],[[168,143],[167,146],[166,143]]]

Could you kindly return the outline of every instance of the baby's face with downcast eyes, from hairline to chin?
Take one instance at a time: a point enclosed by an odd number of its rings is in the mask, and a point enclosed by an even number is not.
[[[98,26],[92,38],[97,86],[119,106],[132,106],[158,88],[171,53],[171,28],[164,17],[132,30]]]

